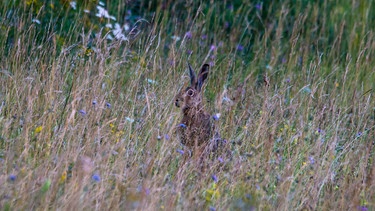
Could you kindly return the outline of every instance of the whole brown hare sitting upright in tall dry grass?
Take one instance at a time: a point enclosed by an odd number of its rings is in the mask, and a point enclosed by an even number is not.
[[[175,105],[182,110],[182,120],[177,133],[181,143],[189,149],[204,149],[214,138],[215,130],[211,115],[205,111],[202,99],[202,87],[208,77],[210,66],[204,64],[198,78],[190,64],[188,66],[190,86],[182,89],[175,98]]]

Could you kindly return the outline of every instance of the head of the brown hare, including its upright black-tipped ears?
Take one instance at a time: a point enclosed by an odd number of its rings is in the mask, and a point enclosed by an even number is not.
[[[183,88],[180,93],[177,94],[175,99],[175,105],[182,107],[183,109],[197,108],[202,104],[202,86],[204,81],[207,79],[209,65],[204,64],[198,74],[198,78],[195,75],[193,68],[189,66],[190,75],[190,86]]]

